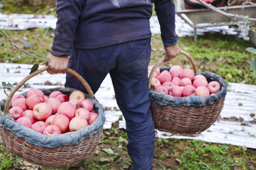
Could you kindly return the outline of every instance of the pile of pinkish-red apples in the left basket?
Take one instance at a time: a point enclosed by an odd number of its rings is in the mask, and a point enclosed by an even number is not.
[[[93,104],[82,91],[73,91],[68,97],[60,91],[45,95],[32,88],[27,97],[12,97],[10,114],[18,123],[44,135],[59,135],[91,125],[98,117]]]

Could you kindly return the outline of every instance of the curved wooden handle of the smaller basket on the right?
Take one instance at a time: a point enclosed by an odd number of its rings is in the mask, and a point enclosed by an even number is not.
[[[187,57],[193,67],[194,73],[197,73],[197,67],[196,67],[196,63],[194,61],[194,59],[185,51],[180,51],[180,54],[184,55],[185,57]],[[166,54],[164,54],[160,59],[158,59],[158,61],[155,63],[155,66],[152,68],[150,75],[148,77],[148,82],[147,82],[147,88],[148,90],[151,88],[151,80],[152,77],[154,76],[154,72],[156,70],[156,68],[165,60],[166,58]]]

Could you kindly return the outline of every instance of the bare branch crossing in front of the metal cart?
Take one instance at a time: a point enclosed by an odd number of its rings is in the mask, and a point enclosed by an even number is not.
[[[192,0],[188,0],[190,2],[193,2]],[[201,3],[201,5],[205,6],[206,8],[210,9],[211,11],[213,12],[216,12],[220,15],[223,15],[223,16],[226,16],[226,17],[231,17],[231,18],[236,18],[238,20],[244,20],[244,17],[243,15],[238,15],[238,14],[230,14],[230,13],[227,13],[223,10],[220,10],[219,8],[216,8],[214,6],[212,6],[211,4],[208,4],[208,3],[205,3],[201,0],[197,0],[199,3]],[[252,21],[252,22],[256,22],[256,18],[249,18],[249,21]]]

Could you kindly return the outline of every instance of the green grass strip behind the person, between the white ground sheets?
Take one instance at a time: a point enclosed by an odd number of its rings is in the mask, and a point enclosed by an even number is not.
[[[22,31],[2,31],[24,51],[32,52],[25,44],[19,42],[20,39],[33,43],[35,55],[39,57],[46,56],[50,51],[54,36],[53,29],[31,28]],[[3,34],[0,34],[0,38],[4,38]],[[23,52],[15,48],[11,49],[7,40],[2,40],[1,43],[4,43],[4,47],[0,47],[0,56],[2,56],[0,62],[37,63],[37,58],[35,57],[21,57]],[[247,47],[252,46],[251,42],[215,33],[199,36],[196,42],[193,41],[192,37],[179,37],[179,46],[195,60],[198,72],[211,71],[222,76],[227,82],[256,85],[256,73],[247,63],[248,60],[255,60],[255,54],[245,51]],[[160,35],[153,34],[150,64],[155,64],[164,52]],[[44,63],[39,60],[39,64]],[[172,66],[175,64],[181,65],[183,68],[192,68],[189,60],[182,55],[162,63],[160,66]]]

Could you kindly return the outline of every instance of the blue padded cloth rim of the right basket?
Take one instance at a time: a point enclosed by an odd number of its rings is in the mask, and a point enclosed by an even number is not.
[[[160,68],[163,69],[163,68]],[[168,69],[168,68],[164,68]],[[221,89],[215,95],[210,95],[207,97],[201,96],[187,96],[187,97],[174,97],[169,94],[155,93],[151,88],[149,89],[149,96],[151,101],[155,101],[161,106],[171,105],[177,106],[193,106],[193,107],[203,107],[205,105],[213,104],[214,102],[219,102],[220,99],[227,94],[227,83],[226,81],[216,73],[205,71],[199,72],[203,76],[207,76],[208,81],[218,81],[221,85]]]

